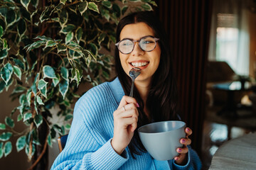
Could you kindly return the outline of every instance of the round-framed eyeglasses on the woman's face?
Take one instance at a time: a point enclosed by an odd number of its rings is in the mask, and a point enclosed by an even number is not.
[[[124,55],[127,55],[134,50],[135,42],[139,42],[139,47],[142,50],[146,52],[151,52],[152,50],[155,49],[156,41],[158,40],[159,38],[154,38],[149,35],[141,38],[140,40],[132,40],[129,38],[125,38],[117,42],[115,45],[117,45],[119,52],[121,52]]]

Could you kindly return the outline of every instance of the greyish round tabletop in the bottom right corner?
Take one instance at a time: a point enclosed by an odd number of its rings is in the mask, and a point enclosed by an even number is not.
[[[213,155],[209,170],[244,170],[256,167],[256,133],[225,142]]]

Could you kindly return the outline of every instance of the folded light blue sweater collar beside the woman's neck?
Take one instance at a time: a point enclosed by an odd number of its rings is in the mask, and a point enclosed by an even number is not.
[[[124,96],[124,89],[122,89],[122,85],[118,77],[110,82],[110,89],[114,94],[114,99],[117,101],[117,105],[119,105],[122,97]]]

